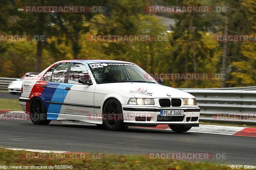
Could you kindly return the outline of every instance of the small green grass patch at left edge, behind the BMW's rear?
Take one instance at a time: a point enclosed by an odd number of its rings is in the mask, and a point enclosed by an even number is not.
[[[0,99],[0,110],[22,111],[17,99]]]

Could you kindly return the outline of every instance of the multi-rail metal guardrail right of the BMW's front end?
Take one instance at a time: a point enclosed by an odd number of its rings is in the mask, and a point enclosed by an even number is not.
[[[201,108],[200,120],[256,124],[256,91],[184,90],[196,97]],[[218,117],[218,116],[221,116]],[[247,116],[251,119],[248,119]],[[240,117],[240,118],[237,118]]]

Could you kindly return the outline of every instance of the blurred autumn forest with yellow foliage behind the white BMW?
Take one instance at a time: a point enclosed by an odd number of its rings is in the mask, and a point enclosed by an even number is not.
[[[253,86],[254,42],[217,42],[214,35],[254,35],[253,0],[0,0],[0,35],[44,35],[46,41],[0,42],[0,77],[20,78],[66,59],[137,63],[149,73],[223,74],[215,80],[165,80],[176,88]],[[104,6],[104,12],[26,13],[22,6]],[[145,8],[225,6],[226,12],[149,13]],[[90,35],[167,35],[162,42],[92,42]]]

